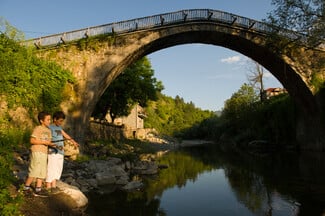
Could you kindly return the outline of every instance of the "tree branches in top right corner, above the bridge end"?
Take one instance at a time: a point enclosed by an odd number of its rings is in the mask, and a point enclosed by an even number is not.
[[[309,45],[317,46],[325,41],[324,0],[272,0],[275,9],[268,21],[281,28],[294,30],[307,36]]]

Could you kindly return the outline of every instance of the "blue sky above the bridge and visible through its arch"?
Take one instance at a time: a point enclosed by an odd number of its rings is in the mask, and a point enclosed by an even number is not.
[[[213,9],[258,21],[271,0],[0,0],[0,17],[26,39],[184,9]],[[203,110],[219,111],[252,70],[252,61],[221,46],[187,44],[148,55],[163,94],[182,97]],[[265,88],[282,85],[266,71]]]

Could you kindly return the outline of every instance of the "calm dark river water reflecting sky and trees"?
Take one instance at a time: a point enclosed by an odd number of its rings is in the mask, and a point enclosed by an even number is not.
[[[142,190],[87,194],[87,215],[325,215],[324,153],[253,156],[210,144],[159,163],[168,168],[145,178]]]

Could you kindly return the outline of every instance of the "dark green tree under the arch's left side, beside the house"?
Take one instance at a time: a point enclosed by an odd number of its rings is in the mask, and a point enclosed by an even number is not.
[[[145,57],[130,65],[105,90],[97,103],[93,116],[103,117],[109,112],[112,122],[117,117],[127,116],[138,103],[147,106],[149,100],[157,99],[157,92],[164,87],[153,77],[150,61]]]

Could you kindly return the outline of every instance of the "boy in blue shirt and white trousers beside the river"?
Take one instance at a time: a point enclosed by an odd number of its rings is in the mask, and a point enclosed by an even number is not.
[[[74,141],[61,127],[65,115],[62,111],[53,114],[53,124],[50,125],[52,132],[52,143],[56,145],[56,151],[49,151],[46,177],[46,188],[51,193],[60,190],[56,187],[56,180],[61,178],[64,162],[64,139],[70,140],[75,146],[79,144]],[[51,150],[51,149],[50,149]]]

